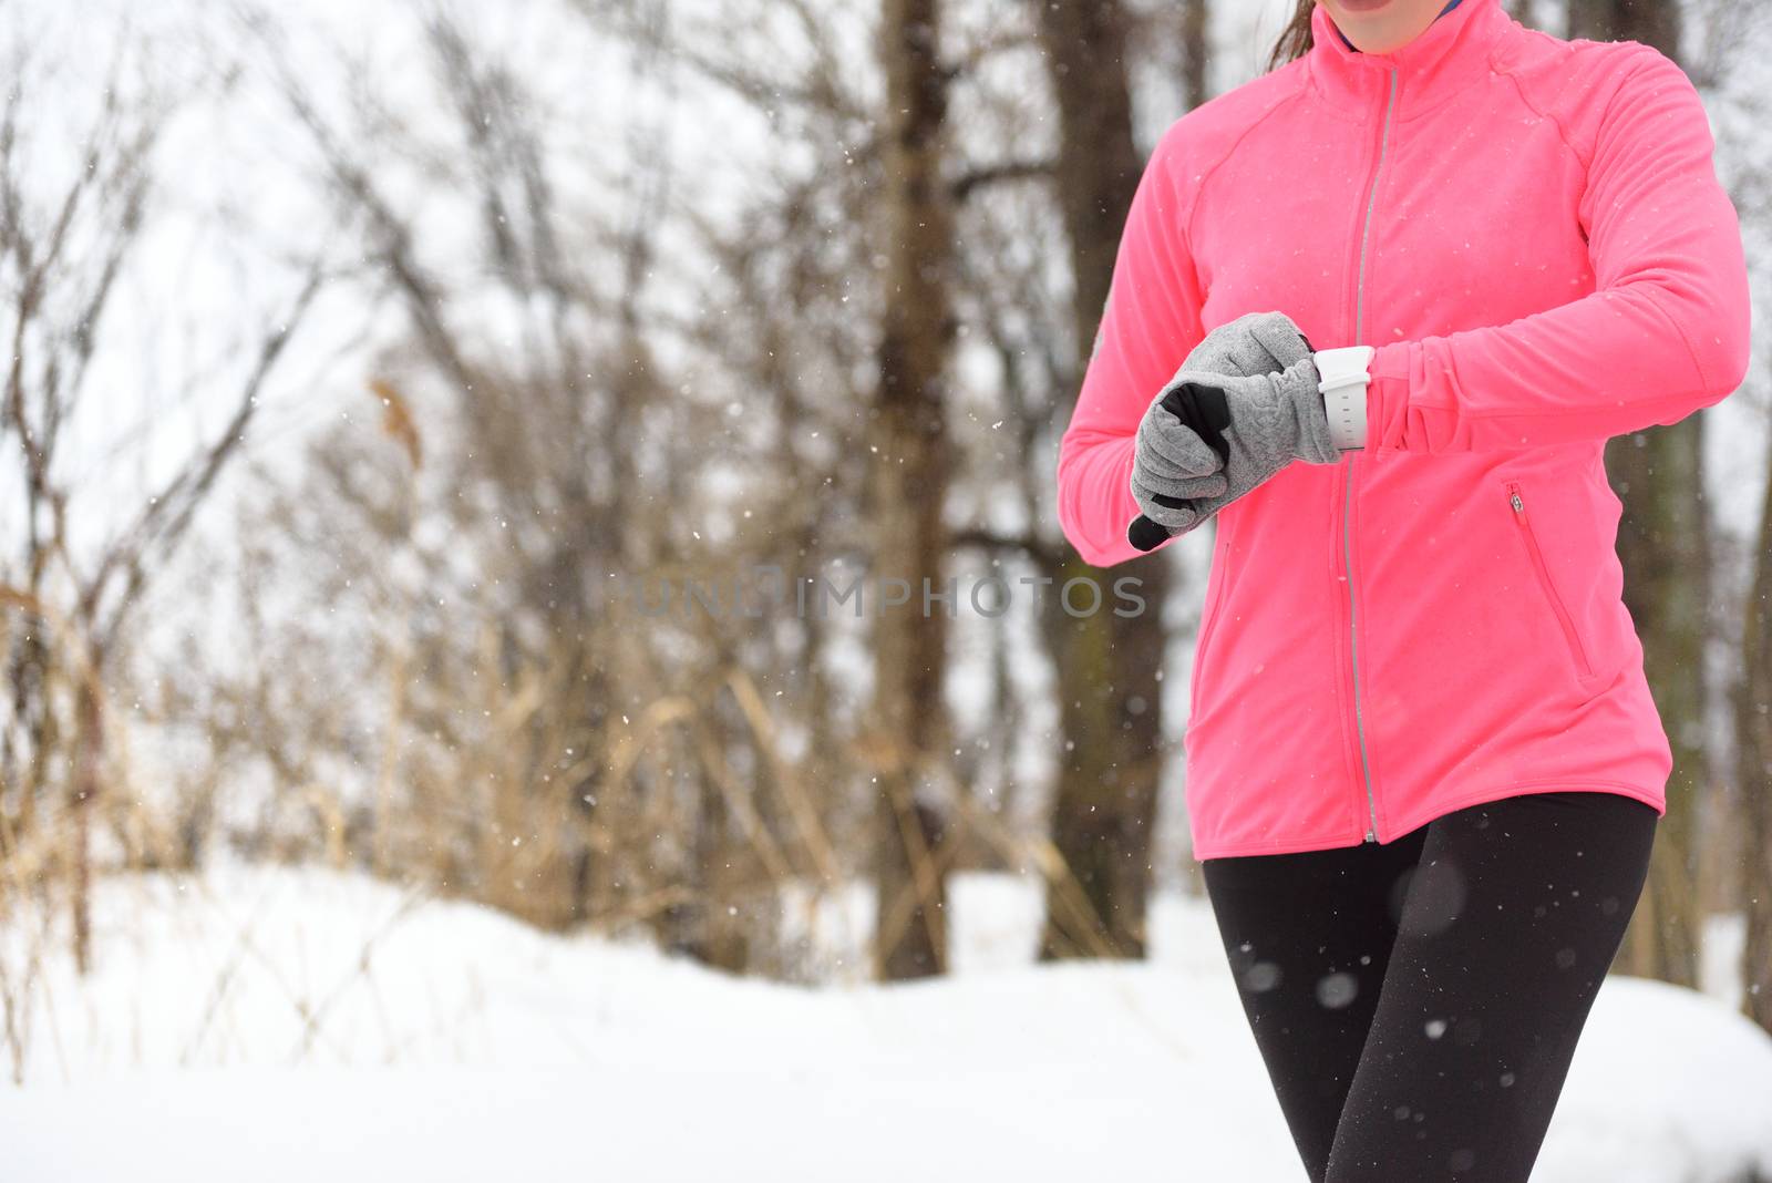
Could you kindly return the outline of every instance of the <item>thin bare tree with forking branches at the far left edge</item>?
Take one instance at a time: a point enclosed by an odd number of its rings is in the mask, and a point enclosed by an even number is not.
[[[37,81],[25,66],[19,60],[14,76]],[[16,615],[14,627],[0,632],[9,689],[0,723],[0,857],[19,857],[39,804],[58,795],[71,820],[60,838],[82,970],[92,932],[92,813],[105,793],[106,680],[144,592],[239,455],[266,383],[323,282],[315,264],[264,331],[220,430],[168,476],[133,503],[106,494],[99,508],[82,496],[90,492],[90,468],[69,453],[69,432],[90,414],[90,367],[108,342],[117,280],[154,213],[152,149],[172,113],[151,89],[122,85],[124,66],[119,53],[80,143],[83,166],[48,200],[27,159],[23,112],[35,97],[28,81],[14,81],[0,117],[0,267],[12,292],[0,445],[21,506],[16,545],[0,553],[0,609]]]

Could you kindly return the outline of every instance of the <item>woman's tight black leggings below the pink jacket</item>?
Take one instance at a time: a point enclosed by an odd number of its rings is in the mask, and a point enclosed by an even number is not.
[[[1201,862],[1315,1183],[1526,1183],[1655,820],[1529,793],[1384,845]]]

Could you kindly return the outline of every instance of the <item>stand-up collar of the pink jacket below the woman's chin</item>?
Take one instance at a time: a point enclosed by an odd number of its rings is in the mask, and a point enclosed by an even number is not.
[[[1462,0],[1437,16],[1414,41],[1389,53],[1361,53],[1341,41],[1322,4],[1311,12],[1311,85],[1338,108],[1382,117],[1396,71],[1393,120],[1439,106],[1453,92],[1488,73],[1490,50],[1515,27],[1501,0]]]

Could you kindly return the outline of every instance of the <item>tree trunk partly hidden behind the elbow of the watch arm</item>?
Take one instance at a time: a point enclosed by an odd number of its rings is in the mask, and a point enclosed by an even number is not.
[[[1673,0],[1570,0],[1568,32],[1641,41],[1680,60],[1680,9]],[[1712,577],[1703,421],[1689,416],[1673,427],[1620,436],[1605,446],[1605,468],[1623,503],[1618,556],[1625,606],[1643,638],[1643,666],[1673,747],[1667,815],[1618,967],[1690,986],[1698,985],[1703,944],[1699,802],[1714,783],[1705,747]]]

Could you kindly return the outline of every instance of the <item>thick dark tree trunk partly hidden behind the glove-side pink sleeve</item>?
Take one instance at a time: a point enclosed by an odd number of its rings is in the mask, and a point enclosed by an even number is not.
[[[1189,92],[1203,90],[1205,0],[1191,0]],[[1040,5],[1042,37],[1060,112],[1058,198],[1070,241],[1074,340],[1093,340],[1125,213],[1141,163],[1132,143],[1132,101],[1125,66],[1125,14],[1118,0]],[[1201,57],[1194,57],[1200,53]],[[1081,367],[1079,367],[1081,370]],[[1081,375],[1072,377],[1072,386]],[[1155,391],[1152,391],[1155,395]],[[1063,407],[1069,413],[1069,407]],[[1058,664],[1065,758],[1053,808],[1053,843],[1090,903],[1077,916],[1047,885],[1044,960],[1063,956],[1143,956],[1152,870],[1152,825],[1161,767],[1162,600],[1168,558],[1138,560],[1118,574],[1138,577],[1145,611],[1132,618],[1111,607],[1086,618],[1047,611],[1047,641]],[[1074,553],[1047,570],[1054,588],[1099,577]],[[1111,602],[1111,600],[1109,600]]]

